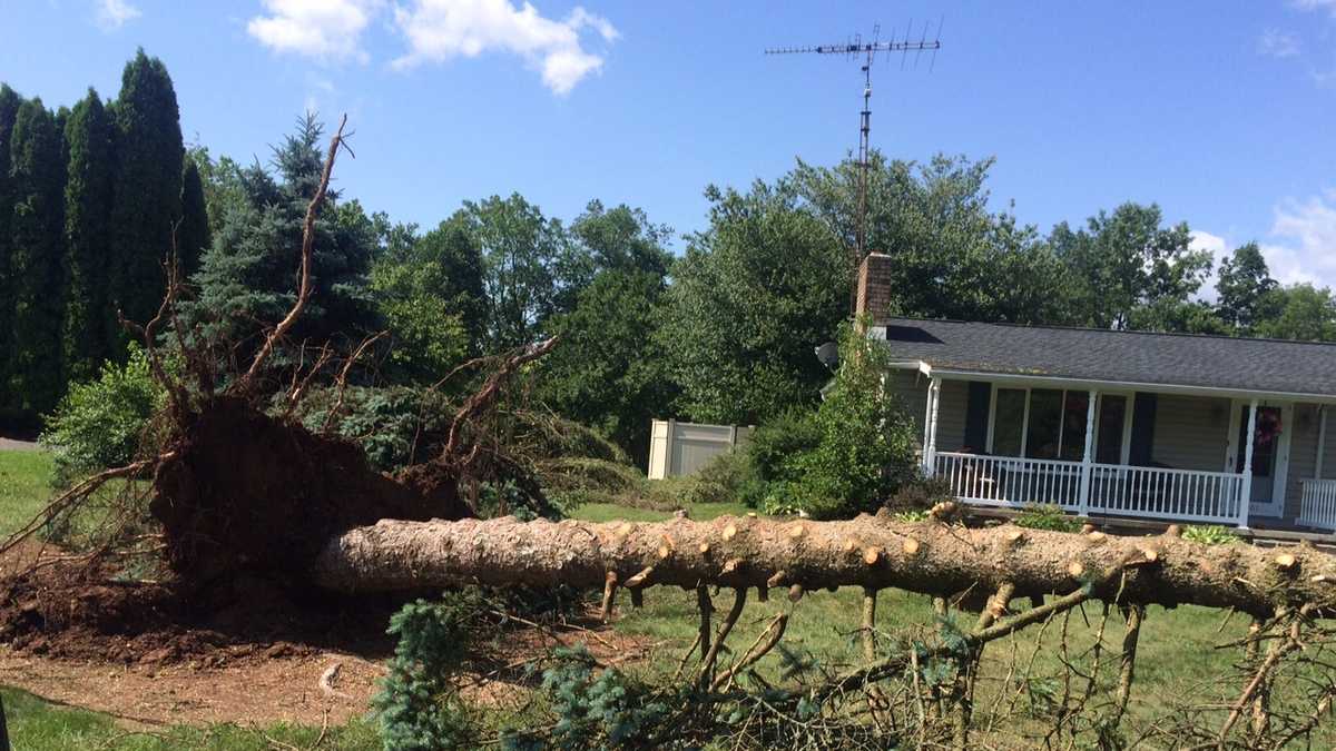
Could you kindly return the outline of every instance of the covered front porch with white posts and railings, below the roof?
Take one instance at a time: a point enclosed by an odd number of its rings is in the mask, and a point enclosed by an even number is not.
[[[922,470],[966,504],[1336,531],[1325,401],[899,366]]]

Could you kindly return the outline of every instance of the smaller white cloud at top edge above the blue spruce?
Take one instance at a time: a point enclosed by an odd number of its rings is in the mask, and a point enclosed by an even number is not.
[[[261,44],[318,60],[370,60],[362,31],[381,0],[265,0],[267,15],[246,24]]]

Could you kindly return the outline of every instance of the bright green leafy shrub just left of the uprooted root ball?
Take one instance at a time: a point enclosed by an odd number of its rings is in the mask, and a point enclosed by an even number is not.
[[[98,378],[72,384],[56,410],[47,416],[40,441],[55,458],[52,484],[68,486],[84,474],[120,466],[140,453],[148,418],[163,404],[148,358],[130,345],[124,365],[107,362]]]

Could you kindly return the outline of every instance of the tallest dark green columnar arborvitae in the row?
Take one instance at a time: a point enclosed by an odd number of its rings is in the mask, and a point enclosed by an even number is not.
[[[126,64],[112,115],[110,297],[126,318],[144,323],[163,297],[162,262],[171,253],[172,227],[180,218],[184,160],[176,92],[162,60],[140,49]]]

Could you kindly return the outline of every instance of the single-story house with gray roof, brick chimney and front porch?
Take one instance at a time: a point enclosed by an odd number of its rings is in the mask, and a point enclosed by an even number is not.
[[[1336,531],[1336,345],[894,318],[890,263],[858,310],[961,501]]]

